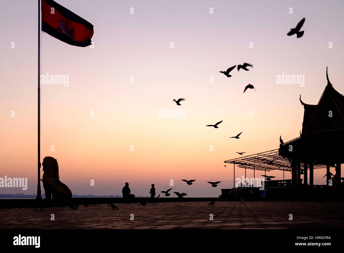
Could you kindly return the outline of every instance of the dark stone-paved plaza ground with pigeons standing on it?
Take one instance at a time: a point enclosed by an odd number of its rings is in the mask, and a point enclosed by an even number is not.
[[[286,229],[344,228],[341,202],[171,202],[2,209],[0,229]],[[55,215],[52,221],[51,214]],[[134,220],[130,220],[130,215]],[[213,214],[214,220],[209,220]],[[293,214],[293,220],[289,220]]]

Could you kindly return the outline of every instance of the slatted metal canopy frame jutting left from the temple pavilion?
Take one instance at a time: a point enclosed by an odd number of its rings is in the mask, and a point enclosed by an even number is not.
[[[280,156],[278,149],[261,152],[254,155],[242,156],[231,160],[224,161],[227,164],[235,164],[239,168],[254,169],[254,170],[285,170],[291,171],[291,160]],[[303,164],[301,163],[301,168]],[[326,165],[314,164],[313,169],[326,168]]]

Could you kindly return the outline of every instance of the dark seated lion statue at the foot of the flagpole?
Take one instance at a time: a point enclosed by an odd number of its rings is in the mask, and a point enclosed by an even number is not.
[[[54,157],[47,156],[43,159],[43,187],[45,199],[71,199],[72,191],[60,181],[58,163]]]

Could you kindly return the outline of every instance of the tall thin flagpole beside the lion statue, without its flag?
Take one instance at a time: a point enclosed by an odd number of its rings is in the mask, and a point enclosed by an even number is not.
[[[41,88],[40,88],[40,52],[41,52],[41,0],[38,0],[38,147],[37,147],[37,166],[38,166],[38,178],[37,178],[37,197],[36,199],[42,199],[41,196]]]

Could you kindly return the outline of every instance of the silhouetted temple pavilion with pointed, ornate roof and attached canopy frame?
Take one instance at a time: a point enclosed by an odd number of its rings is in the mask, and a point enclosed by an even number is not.
[[[283,172],[283,180],[271,180],[270,183],[275,186],[312,186],[313,170],[326,168],[326,185],[330,179],[334,179],[335,183],[343,183],[341,164],[344,164],[344,96],[331,84],[327,67],[326,78],[327,85],[318,104],[306,104],[300,95],[304,109],[300,136],[286,143],[280,137],[279,149],[224,161],[225,164],[233,164],[234,175],[235,165],[245,168],[245,178],[246,169],[265,173],[271,170],[291,171],[291,180],[284,180]],[[330,167],[335,168],[335,175],[330,173]],[[303,180],[301,175],[304,175]]]

